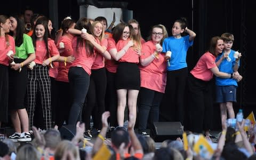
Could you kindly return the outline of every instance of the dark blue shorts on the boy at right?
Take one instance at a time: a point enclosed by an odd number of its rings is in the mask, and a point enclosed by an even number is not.
[[[236,86],[226,85],[226,86],[216,86],[216,102],[236,102]]]

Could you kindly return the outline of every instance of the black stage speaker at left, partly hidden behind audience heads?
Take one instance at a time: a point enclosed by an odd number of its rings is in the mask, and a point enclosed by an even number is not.
[[[72,140],[76,135],[76,125],[62,125],[59,131],[61,139]]]

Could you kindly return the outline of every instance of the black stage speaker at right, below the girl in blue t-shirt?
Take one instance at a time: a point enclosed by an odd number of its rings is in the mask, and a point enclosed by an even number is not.
[[[155,142],[163,142],[164,140],[176,140],[182,138],[183,127],[180,122],[154,122],[151,137]]]

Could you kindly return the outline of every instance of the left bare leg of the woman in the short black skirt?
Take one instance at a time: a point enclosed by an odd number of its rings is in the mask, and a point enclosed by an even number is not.
[[[124,110],[126,106],[127,90],[116,90],[117,92],[117,123],[119,126],[124,126]]]

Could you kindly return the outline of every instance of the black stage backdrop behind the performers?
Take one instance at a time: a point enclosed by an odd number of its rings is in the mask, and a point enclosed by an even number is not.
[[[49,0],[51,1],[51,0]],[[84,1],[87,2],[87,1]],[[207,50],[210,38],[220,36],[222,33],[230,32],[235,36],[234,50],[242,52],[241,67],[239,73],[243,81],[239,83],[237,91],[237,102],[234,103],[235,113],[239,108],[244,109],[247,116],[250,111],[256,113],[256,84],[253,78],[255,47],[255,6],[256,1],[246,0],[184,0],[184,1],[125,1],[127,9],[133,10],[133,17],[140,22],[142,36],[147,38],[149,28],[156,24],[163,24],[169,35],[174,20],[186,17],[189,21],[188,27],[197,34],[194,45],[188,51],[188,69],[194,67],[199,57]],[[168,4],[167,4],[168,3]],[[26,6],[30,6],[35,13],[49,15],[48,1],[14,0],[5,1],[0,6],[0,14],[12,12],[23,12]],[[58,2],[59,23],[67,15],[73,19],[79,18],[79,5],[75,0],[62,0]],[[54,23],[54,22],[53,22]],[[214,103],[214,129],[220,129],[219,106]]]

